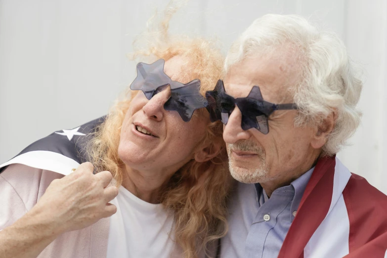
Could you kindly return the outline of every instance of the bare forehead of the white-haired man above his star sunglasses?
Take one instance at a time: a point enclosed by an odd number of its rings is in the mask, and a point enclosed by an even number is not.
[[[291,87],[299,73],[295,60],[286,55],[267,54],[248,57],[232,65],[225,77],[224,88],[233,97],[246,97],[253,86],[259,86],[264,100],[272,103],[292,101]]]

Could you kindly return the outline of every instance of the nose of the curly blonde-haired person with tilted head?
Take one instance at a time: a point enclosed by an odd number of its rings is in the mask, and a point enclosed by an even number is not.
[[[164,104],[171,97],[170,86],[165,86],[159,93],[154,95],[148,102],[142,107],[144,114],[153,120],[161,121],[165,114]]]

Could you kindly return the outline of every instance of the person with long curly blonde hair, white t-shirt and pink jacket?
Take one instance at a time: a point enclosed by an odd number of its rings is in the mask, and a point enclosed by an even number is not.
[[[80,160],[94,168],[84,163],[63,177],[51,172],[54,157],[47,162],[51,171],[17,157],[6,164],[0,174],[0,256],[211,256],[208,248],[227,230],[230,177],[222,126],[211,123],[203,107],[222,58],[205,40],[166,37],[169,18],[162,40],[136,53],[155,62],[137,65],[131,98],[119,101],[105,120],[49,136],[82,145],[86,158]],[[110,173],[118,191],[109,185]]]

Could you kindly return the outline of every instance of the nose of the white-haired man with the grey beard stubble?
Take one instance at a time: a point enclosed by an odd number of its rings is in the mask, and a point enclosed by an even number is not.
[[[232,144],[238,140],[250,138],[250,133],[242,129],[241,125],[242,113],[238,106],[235,106],[223,130],[223,139],[226,143]]]

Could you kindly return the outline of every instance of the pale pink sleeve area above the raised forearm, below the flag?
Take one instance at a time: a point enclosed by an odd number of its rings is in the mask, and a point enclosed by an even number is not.
[[[9,165],[0,174],[0,230],[29,211],[52,180],[61,177],[62,174],[22,164]]]

